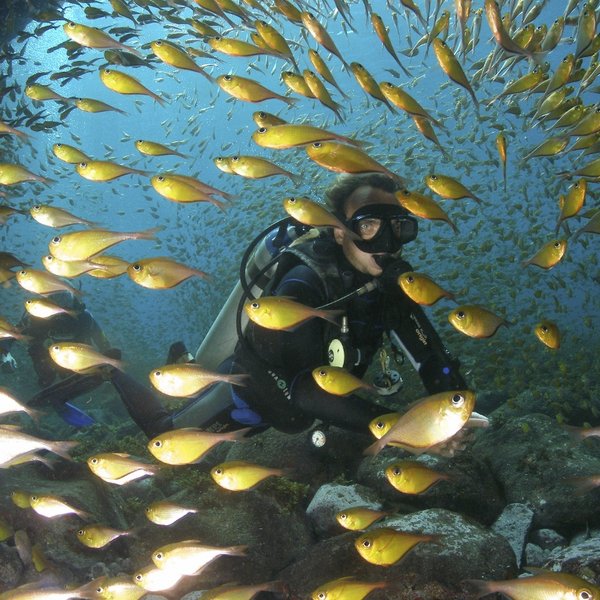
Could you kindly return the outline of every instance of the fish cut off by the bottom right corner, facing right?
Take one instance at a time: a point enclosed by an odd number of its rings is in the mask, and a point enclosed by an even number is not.
[[[530,570],[530,569],[528,569]],[[499,592],[512,600],[549,600],[551,598],[579,600],[600,598],[600,587],[588,583],[585,579],[571,573],[556,573],[554,571],[535,570],[532,577],[505,579],[502,581],[482,581],[468,579],[469,587],[473,589],[475,598],[481,598]]]

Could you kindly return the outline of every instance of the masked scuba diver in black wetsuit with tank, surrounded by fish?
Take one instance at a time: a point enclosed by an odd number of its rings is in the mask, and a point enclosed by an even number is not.
[[[180,427],[223,431],[247,426],[294,433],[310,429],[315,421],[368,433],[369,423],[390,409],[355,394],[330,394],[311,373],[331,364],[362,377],[384,332],[394,350],[417,370],[429,394],[465,389],[458,360],[450,356],[421,307],[397,284],[401,273],[413,270],[401,254],[418,232],[416,219],[394,195],[398,189],[381,174],[343,175],[326,192],[327,203],[353,235],[315,228],[290,243],[303,228],[298,231],[297,224],[285,219],[268,235],[262,232],[255,238],[242,260],[240,282],[195,357],[206,369],[249,375],[247,385],[219,382],[171,413],[153,391],[111,369],[109,380],[144,433],[153,437]],[[272,260],[261,257],[265,251]],[[342,309],[341,328],[323,319],[310,319],[291,331],[242,323],[244,302],[260,295]],[[167,362],[192,362],[192,356],[178,342]],[[397,391],[399,374],[387,370],[384,375],[374,382],[380,393]],[[67,399],[77,393],[75,382]]]

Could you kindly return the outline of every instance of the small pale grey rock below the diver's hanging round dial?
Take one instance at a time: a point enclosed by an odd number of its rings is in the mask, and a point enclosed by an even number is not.
[[[381,503],[369,488],[361,485],[327,483],[322,485],[313,496],[306,509],[306,516],[318,536],[336,535],[342,530],[335,519],[336,513],[353,506],[368,506],[381,510]]]

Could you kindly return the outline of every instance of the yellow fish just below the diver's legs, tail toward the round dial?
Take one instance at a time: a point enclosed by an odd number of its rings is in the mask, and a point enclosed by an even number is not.
[[[249,428],[227,433],[211,433],[196,427],[165,431],[148,442],[150,454],[168,465],[196,463],[217,444],[241,440]]]

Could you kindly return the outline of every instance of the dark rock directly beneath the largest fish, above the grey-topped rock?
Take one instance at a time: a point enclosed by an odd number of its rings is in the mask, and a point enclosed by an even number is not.
[[[489,467],[470,448],[453,458],[431,454],[418,457],[427,467],[446,473],[447,480],[436,483],[422,494],[397,491],[385,476],[385,469],[398,460],[417,460],[398,448],[386,448],[375,457],[365,458],[358,470],[357,481],[371,487],[382,499],[412,512],[424,508],[445,508],[491,525],[502,512],[504,501]]]

